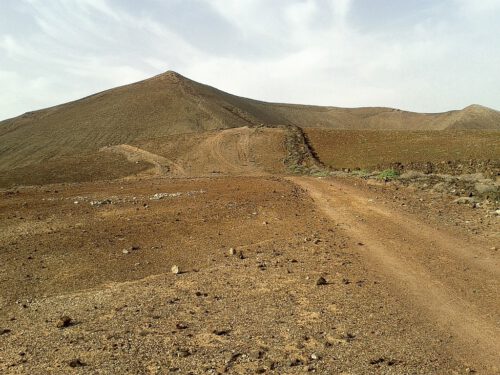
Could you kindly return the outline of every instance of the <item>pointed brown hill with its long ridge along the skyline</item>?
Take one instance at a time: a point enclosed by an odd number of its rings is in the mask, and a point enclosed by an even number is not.
[[[390,108],[266,103],[231,95],[169,71],[0,122],[0,171],[90,154],[103,146],[277,124],[353,130],[500,130],[500,112],[477,105],[420,114]]]

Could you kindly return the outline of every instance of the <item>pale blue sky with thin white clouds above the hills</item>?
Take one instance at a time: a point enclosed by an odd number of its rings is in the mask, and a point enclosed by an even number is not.
[[[273,102],[500,109],[500,0],[0,1],[0,119],[167,70]]]

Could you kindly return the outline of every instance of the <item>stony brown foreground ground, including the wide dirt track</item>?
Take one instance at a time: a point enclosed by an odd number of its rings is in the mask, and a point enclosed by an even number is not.
[[[455,199],[352,177],[4,190],[0,372],[498,373],[498,216]]]

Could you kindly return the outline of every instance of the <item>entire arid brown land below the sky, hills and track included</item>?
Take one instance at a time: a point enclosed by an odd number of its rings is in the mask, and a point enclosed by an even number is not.
[[[0,373],[500,374],[500,113],[167,72],[0,122]]]

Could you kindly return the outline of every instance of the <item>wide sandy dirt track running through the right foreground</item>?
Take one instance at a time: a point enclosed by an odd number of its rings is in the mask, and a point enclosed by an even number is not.
[[[317,206],[359,241],[366,263],[408,309],[453,337],[455,350],[485,373],[500,369],[500,268],[484,244],[452,236],[334,179],[296,177]]]

